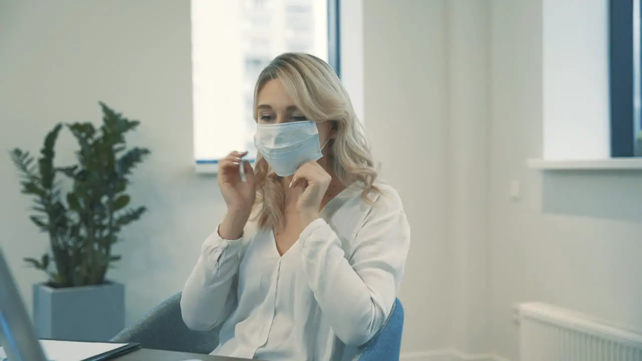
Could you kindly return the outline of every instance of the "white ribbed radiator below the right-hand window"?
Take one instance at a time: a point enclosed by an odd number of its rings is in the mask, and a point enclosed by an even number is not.
[[[522,303],[518,317],[520,361],[642,361],[642,335],[582,313]]]

